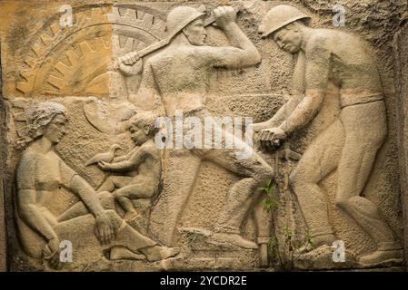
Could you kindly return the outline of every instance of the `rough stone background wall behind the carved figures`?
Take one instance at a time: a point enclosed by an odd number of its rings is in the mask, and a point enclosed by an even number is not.
[[[74,8],[75,23],[73,28],[62,29],[59,26],[61,14],[58,13],[58,7],[66,3]],[[121,122],[121,115],[129,113],[132,108],[133,103],[130,100],[137,92],[141,78],[140,75],[124,78],[112,70],[111,61],[163,38],[166,15],[175,6],[182,3],[191,6],[204,4],[214,8],[218,1],[114,1],[114,3],[113,5],[112,1],[61,0],[4,1],[0,4],[3,64],[0,67],[4,76],[2,95],[5,99],[5,103],[3,99],[0,103],[2,108],[0,144],[5,145],[2,146],[1,152],[4,164],[0,164],[1,170],[4,170],[2,177],[5,180],[5,201],[2,200],[3,195],[0,197],[0,251],[7,249],[11,257],[8,260],[12,261],[10,265],[12,270],[41,268],[23,254],[14,222],[15,169],[22,154],[22,151],[17,149],[16,140],[22,137],[21,131],[26,125],[25,111],[42,101],[52,100],[65,105],[70,119],[66,130],[67,137],[56,146],[56,152],[68,166],[97,189],[108,174],[96,166],[86,166],[85,163],[95,153],[109,150],[114,143],[122,148],[119,155],[133,148],[133,142],[125,131],[115,131],[117,128],[114,126]],[[403,239],[403,228],[405,233],[408,229],[406,223],[408,217],[406,211],[403,212],[401,198],[404,200],[405,208],[408,207],[408,199],[406,195],[403,197],[400,195],[402,191],[405,192],[407,181],[404,177],[408,165],[408,157],[405,157],[406,152],[403,150],[406,148],[405,145],[408,145],[406,144],[408,135],[405,134],[405,116],[408,111],[405,111],[403,97],[406,93],[405,79],[408,76],[403,58],[408,43],[406,30],[402,30],[394,42],[396,47],[394,54],[396,70],[394,70],[393,34],[402,21],[406,1],[321,1],[320,5],[312,0],[285,2],[256,0],[231,3],[244,6],[238,14],[237,23],[261,53],[262,63],[245,69],[214,70],[207,91],[209,94],[207,105],[220,114],[228,111],[236,116],[252,117],[255,122],[270,119],[284,103],[284,98],[291,91],[294,67],[294,59],[289,53],[284,53],[271,40],[261,39],[258,34],[257,27],[264,14],[278,4],[296,5],[304,14],[312,17],[312,27],[333,29],[333,5],[345,7],[345,26],[335,29],[356,35],[371,47],[377,57],[387,110],[387,139],[378,152],[362,195],[379,206],[381,214],[392,227],[396,237]],[[210,26],[207,33],[206,44],[228,45],[225,35],[219,29]],[[148,58],[146,57],[144,61]],[[398,88],[397,92],[395,87]],[[9,111],[6,112],[6,108]],[[101,115],[102,118],[99,118]],[[307,129],[294,136],[291,147],[303,153],[311,141],[325,131],[338,116],[338,95],[334,93],[325,98],[323,110]],[[270,164],[274,163],[271,154],[264,154],[263,157]],[[164,162],[164,165],[168,164]],[[284,165],[285,170],[290,171],[295,165],[295,162],[289,162]],[[168,172],[164,167],[162,179],[171,179],[184,174],[186,170],[177,168],[177,164],[174,168],[175,170]],[[217,167],[212,162],[203,162],[194,189],[181,206],[179,218],[174,224],[176,246],[191,247],[191,240],[183,228],[200,227],[207,231],[213,229],[227,192],[238,179],[236,174]],[[354,256],[372,252],[375,250],[373,240],[363,232],[353,218],[334,205],[336,179],[337,172],[333,170],[320,184],[327,193],[330,219],[336,237],[344,241],[345,247]],[[400,189],[400,182],[403,190]],[[0,183],[0,189],[1,187]],[[3,189],[0,192],[3,193]],[[49,208],[53,214],[58,215],[77,201],[78,198],[61,189],[58,201],[49,205]],[[153,203],[148,234],[149,237],[154,237],[155,240],[165,244],[164,233],[173,230],[164,227],[165,211],[172,205],[161,203],[160,197],[154,199]],[[3,204],[4,209],[1,208]],[[274,221],[278,233],[284,229],[288,219],[285,210],[286,208],[281,209],[277,220]],[[2,216],[4,214],[5,218]],[[291,215],[296,235],[302,236],[305,227],[300,208],[293,208]],[[2,224],[3,220],[6,220],[7,230],[3,228],[5,227]],[[250,215],[244,223],[244,237],[256,239],[255,224],[255,218]],[[5,233],[8,235],[9,247],[3,247],[1,244],[6,242]],[[405,245],[408,245],[406,235],[405,241]],[[248,269],[260,266],[257,254],[252,250],[244,250],[241,253],[235,248],[227,249],[225,252],[219,250],[212,252],[213,248],[203,250],[200,248],[203,245],[198,244],[199,247],[190,249],[187,253],[193,257],[191,260],[175,261],[170,267]],[[90,255],[87,252],[85,254]],[[0,262],[5,264],[5,260]],[[149,268],[144,262],[127,262],[111,263],[101,254],[93,256],[93,260],[86,266],[74,266],[74,270],[133,271]],[[156,265],[152,268],[155,267]]]

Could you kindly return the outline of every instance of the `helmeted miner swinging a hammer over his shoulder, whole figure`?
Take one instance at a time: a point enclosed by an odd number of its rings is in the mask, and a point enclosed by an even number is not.
[[[204,117],[217,113],[205,106],[210,77],[215,68],[240,69],[261,62],[254,44],[235,23],[233,7],[214,9],[216,26],[224,33],[229,45],[209,46],[204,40],[204,12],[189,6],[175,7],[167,15],[167,33],[171,42],[144,62],[139,91],[131,100],[144,110],[154,110],[174,118],[176,111],[184,117]],[[132,60],[130,60],[132,61]],[[135,59],[133,61],[136,61]],[[151,217],[154,231],[167,245],[174,243],[174,233],[183,208],[194,188],[202,160],[209,160],[241,177],[229,189],[224,208],[211,238],[216,242],[255,249],[257,245],[241,236],[240,227],[255,199],[256,189],[273,174],[269,165],[256,153],[240,159],[238,150],[248,148],[244,140],[223,130],[224,138],[234,139],[237,150],[173,149],[168,150],[164,192],[156,208],[164,208],[159,217]],[[252,152],[252,149],[251,149]]]

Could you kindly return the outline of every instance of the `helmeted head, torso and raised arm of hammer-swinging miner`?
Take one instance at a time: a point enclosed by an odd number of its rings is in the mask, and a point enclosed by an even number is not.
[[[178,6],[167,14],[166,28],[173,35],[172,41],[144,63],[140,89],[137,96],[131,96],[136,105],[151,110],[163,102],[169,117],[175,110],[200,109],[214,68],[239,69],[261,62],[260,53],[235,23],[236,12],[231,6],[213,12],[215,24],[230,45],[205,45],[203,11],[204,6]]]

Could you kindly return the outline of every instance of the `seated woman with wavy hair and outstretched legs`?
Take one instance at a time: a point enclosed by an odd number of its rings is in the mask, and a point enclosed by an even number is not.
[[[17,225],[27,255],[59,268],[61,240],[71,241],[77,249],[85,247],[88,252],[111,249],[111,258],[145,256],[157,261],[177,255],[178,249],[158,246],[114,210],[104,209],[95,190],[58,156],[55,145],[65,135],[67,121],[65,107],[56,102],[39,103],[30,116],[29,136],[25,138],[28,147],[16,177]],[[84,215],[63,214],[57,218],[51,212],[49,205],[62,187],[85,204]]]

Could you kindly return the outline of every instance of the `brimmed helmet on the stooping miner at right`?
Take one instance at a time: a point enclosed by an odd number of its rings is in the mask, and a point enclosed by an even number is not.
[[[266,37],[269,34],[273,34],[275,31],[281,29],[287,24],[291,24],[296,20],[310,19],[306,14],[303,14],[299,9],[290,5],[277,5],[274,6],[264,16],[263,23],[259,26],[259,33],[262,37]]]

